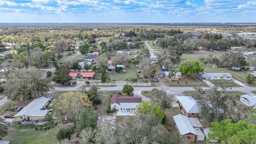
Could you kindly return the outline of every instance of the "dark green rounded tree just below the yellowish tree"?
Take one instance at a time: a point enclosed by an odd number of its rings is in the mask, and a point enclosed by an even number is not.
[[[77,116],[76,129],[81,132],[87,127],[97,126],[97,112],[93,108],[84,108]]]

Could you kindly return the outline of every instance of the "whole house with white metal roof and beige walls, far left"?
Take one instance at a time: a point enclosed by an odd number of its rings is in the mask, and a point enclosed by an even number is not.
[[[16,121],[22,121],[23,119],[28,121],[45,119],[50,115],[49,110],[45,109],[50,100],[51,99],[47,97],[34,99],[26,107],[21,109],[19,113],[14,116],[14,118]]]

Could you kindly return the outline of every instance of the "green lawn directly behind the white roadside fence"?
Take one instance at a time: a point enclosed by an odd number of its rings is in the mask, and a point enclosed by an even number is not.
[[[123,73],[107,73],[110,78],[110,81],[125,81],[126,78],[136,77],[137,68],[127,68]]]

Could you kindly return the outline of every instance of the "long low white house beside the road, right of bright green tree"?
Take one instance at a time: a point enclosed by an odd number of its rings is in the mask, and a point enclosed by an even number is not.
[[[230,73],[199,73],[199,77],[204,79],[227,79],[230,80],[232,75]]]

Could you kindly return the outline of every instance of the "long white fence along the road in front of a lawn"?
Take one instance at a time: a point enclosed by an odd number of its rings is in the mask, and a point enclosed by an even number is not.
[[[132,85],[132,86],[151,86],[151,83],[130,83],[125,81],[117,81],[111,83],[90,83],[90,85],[98,85],[98,86],[116,86],[116,85]]]

